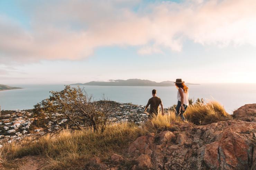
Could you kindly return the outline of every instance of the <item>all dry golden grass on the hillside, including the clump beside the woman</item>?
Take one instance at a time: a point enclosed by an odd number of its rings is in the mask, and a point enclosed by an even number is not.
[[[206,124],[219,120],[231,119],[223,106],[216,101],[209,103],[195,103],[185,112],[187,122],[194,124]],[[109,162],[112,153],[121,154],[124,157],[128,145],[139,136],[154,132],[158,134],[163,130],[179,131],[178,125],[183,123],[175,116],[175,112],[168,111],[162,116],[158,114],[151,121],[141,125],[134,123],[120,123],[106,126],[104,132],[90,129],[62,130],[55,135],[47,134],[37,141],[20,141],[4,144],[0,150],[0,159],[4,166],[10,160],[27,155],[42,155],[46,157],[50,169],[84,169],[90,158],[96,156]],[[109,162],[111,163],[111,162]],[[124,166],[129,169],[129,162]]]

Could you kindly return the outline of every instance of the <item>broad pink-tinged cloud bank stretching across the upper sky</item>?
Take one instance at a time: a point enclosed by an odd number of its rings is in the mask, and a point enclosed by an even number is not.
[[[136,46],[139,54],[181,51],[186,39],[220,47],[256,46],[255,0],[38,3],[24,7],[29,29],[0,13],[1,63],[79,60],[108,46]]]

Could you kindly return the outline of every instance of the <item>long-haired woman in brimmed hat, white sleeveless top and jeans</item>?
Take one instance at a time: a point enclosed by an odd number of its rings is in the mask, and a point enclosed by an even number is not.
[[[189,88],[184,84],[182,79],[176,79],[175,86],[178,89],[177,99],[178,104],[176,106],[176,116],[180,116],[182,120],[185,120],[183,113],[189,106]]]

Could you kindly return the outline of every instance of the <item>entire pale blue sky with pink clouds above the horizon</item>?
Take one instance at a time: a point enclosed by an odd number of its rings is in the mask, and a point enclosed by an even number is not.
[[[255,0],[1,0],[0,84],[256,83]]]

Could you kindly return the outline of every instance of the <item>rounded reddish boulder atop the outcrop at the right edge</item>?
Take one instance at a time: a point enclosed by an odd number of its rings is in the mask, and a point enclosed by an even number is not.
[[[245,104],[245,106],[240,107],[233,113],[235,119],[244,121],[256,121],[256,103],[255,104]]]

